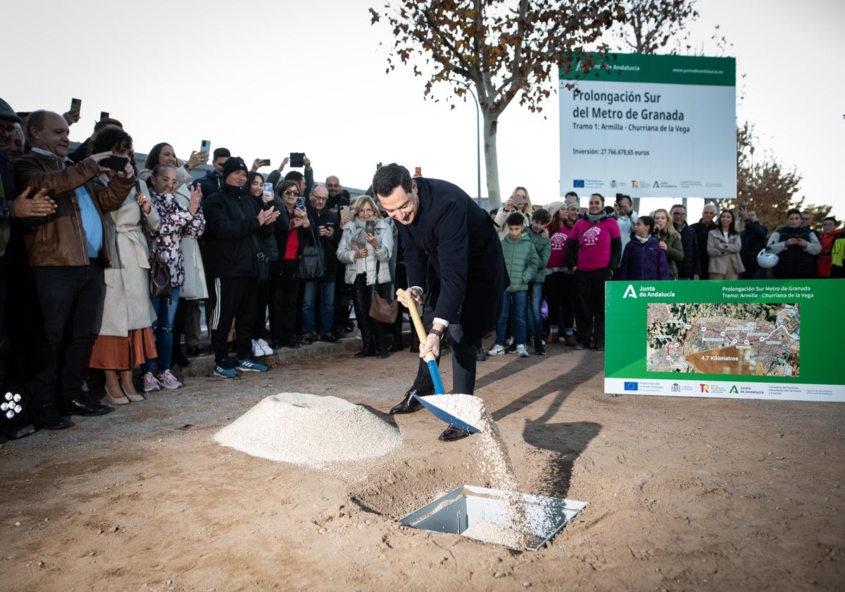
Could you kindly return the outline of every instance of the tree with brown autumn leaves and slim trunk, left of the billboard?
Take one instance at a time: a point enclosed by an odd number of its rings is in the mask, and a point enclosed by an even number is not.
[[[517,99],[542,111],[559,68],[581,77],[606,63],[608,46],[598,40],[624,20],[617,0],[395,0],[370,14],[393,28],[389,73],[397,63],[411,64],[426,80],[425,97],[439,82],[450,86],[449,101],[475,90],[493,207],[501,206],[496,132],[505,107]]]

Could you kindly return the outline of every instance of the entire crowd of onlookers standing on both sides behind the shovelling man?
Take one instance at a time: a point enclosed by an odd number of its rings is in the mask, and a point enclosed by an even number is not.
[[[0,100],[0,383],[30,393],[41,428],[112,412],[86,392],[92,369],[105,375],[111,405],[183,388],[172,365],[206,353],[203,310],[222,378],[269,370],[261,358],[280,348],[337,343],[353,330],[351,310],[362,338],[355,358],[403,348],[401,315],[393,324],[368,315],[376,294],[406,287],[393,221],[372,195],[350,200],[332,175],[314,183],[308,157],[302,173],[285,173],[285,158],[265,177],[258,159],[248,167],[226,148],[182,159],[164,141],[139,170],[116,119],[69,151],[78,119]],[[688,225],[682,205],[643,217],[632,206],[627,195],[606,206],[593,194],[582,211],[570,192],[541,207],[515,188],[491,212],[510,287],[493,346],[476,343],[477,359],[526,357],[531,345],[544,355],[558,341],[602,350],[613,279],[843,275],[845,237],[832,217],[817,233],[791,210],[769,233],[744,208],[707,204]],[[777,265],[758,265],[760,251]],[[318,267],[303,270],[305,252],[318,254]],[[169,271],[167,295],[150,293],[155,263]]]

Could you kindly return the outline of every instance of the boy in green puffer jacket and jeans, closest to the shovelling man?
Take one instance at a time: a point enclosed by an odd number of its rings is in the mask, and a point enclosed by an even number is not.
[[[510,307],[514,310],[514,340],[516,353],[520,358],[528,357],[526,349],[526,304],[528,301],[528,282],[537,273],[537,249],[525,230],[525,218],[518,211],[510,214],[506,221],[508,234],[502,240],[504,265],[508,268],[510,286],[504,290],[502,315],[496,325],[496,344],[488,352],[490,355],[503,355],[504,331],[508,325]]]

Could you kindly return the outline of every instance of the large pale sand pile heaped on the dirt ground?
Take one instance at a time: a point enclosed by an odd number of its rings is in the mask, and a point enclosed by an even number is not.
[[[215,434],[255,457],[322,468],[383,456],[401,446],[399,430],[337,397],[280,392]]]

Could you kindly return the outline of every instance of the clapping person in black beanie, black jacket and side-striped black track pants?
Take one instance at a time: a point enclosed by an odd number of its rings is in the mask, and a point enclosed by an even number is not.
[[[275,207],[262,210],[246,190],[249,169],[232,156],[222,167],[223,185],[203,201],[206,263],[214,277],[216,306],[209,321],[215,375],[233,378],[237,370],[266,372],[253,358],[252,339],[258,298],[260,245],[273,233]],[[237,365],[229,360],[227,337],[235,321]],[[236,370],[237,368],[237,370]]]

